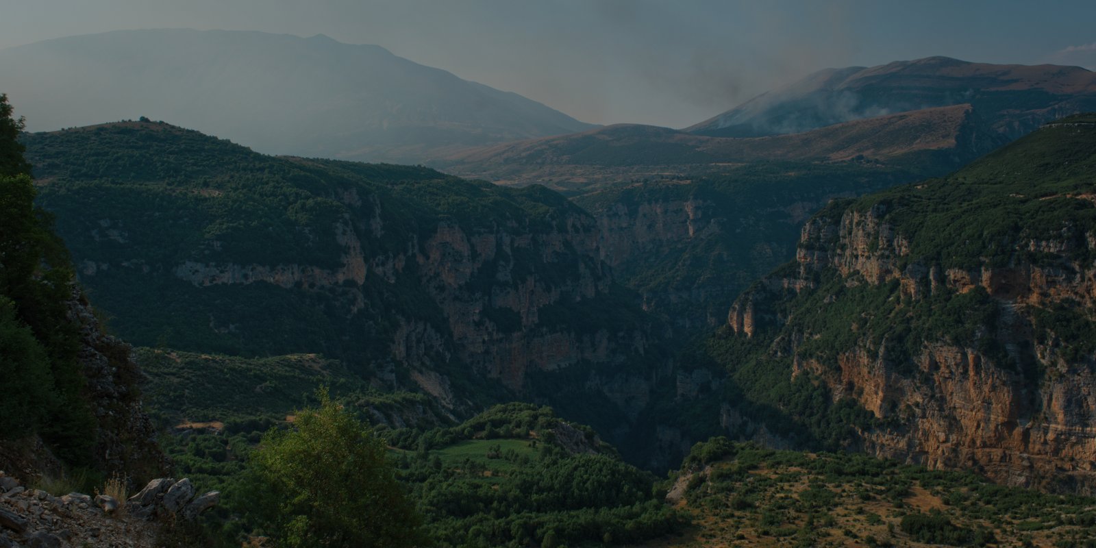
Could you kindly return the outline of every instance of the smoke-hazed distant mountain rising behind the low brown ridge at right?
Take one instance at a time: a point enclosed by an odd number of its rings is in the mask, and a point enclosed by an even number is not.
[[[685,128],[761,137],[809,132],[897,112],[968,103],[1015,139],[1040,124],[1096,107],[1096,72],[1058,65],[990,65],[949,57],[826,69]]]

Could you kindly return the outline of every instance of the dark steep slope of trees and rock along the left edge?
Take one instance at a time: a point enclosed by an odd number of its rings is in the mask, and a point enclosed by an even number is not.
[[[162,454],[140,411],[128,346],[107,336],[80,287],[53,217],[35,206],[22,118],[0,94],[0,468],[94,482],[147,479]],[[78,470],[78,471],[77,471]],[[36,478],[35,478],[36,479]]]

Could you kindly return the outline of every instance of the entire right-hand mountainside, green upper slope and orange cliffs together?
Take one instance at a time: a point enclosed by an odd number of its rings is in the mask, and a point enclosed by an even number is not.
[[[1096,126],[1051,125],[947,179],[832,204],[726,336],[870,412],[848,445],[1096,492],[1094,145]]]

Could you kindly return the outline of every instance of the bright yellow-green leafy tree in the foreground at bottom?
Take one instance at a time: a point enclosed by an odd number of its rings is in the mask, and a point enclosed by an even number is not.
[[[285,547],[413,547],[418,514],[372,430],[319,392],[293,430],[267,432],[249,461],[258,522]]]

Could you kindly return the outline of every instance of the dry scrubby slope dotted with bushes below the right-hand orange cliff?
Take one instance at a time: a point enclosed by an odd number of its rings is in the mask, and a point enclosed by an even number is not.
[[[672,479],[692,475],[685,499],[697,537],[726,540],[733,532],[734,546],[781,536],[800,546],[842,545],[840,537],[852,535],[876,546],[986,546],[1035,535],[1050,546],[1096,534],[1096,499],[997,486],[970,471],[719,437],[696,444],[686,463],[693,466]]]

